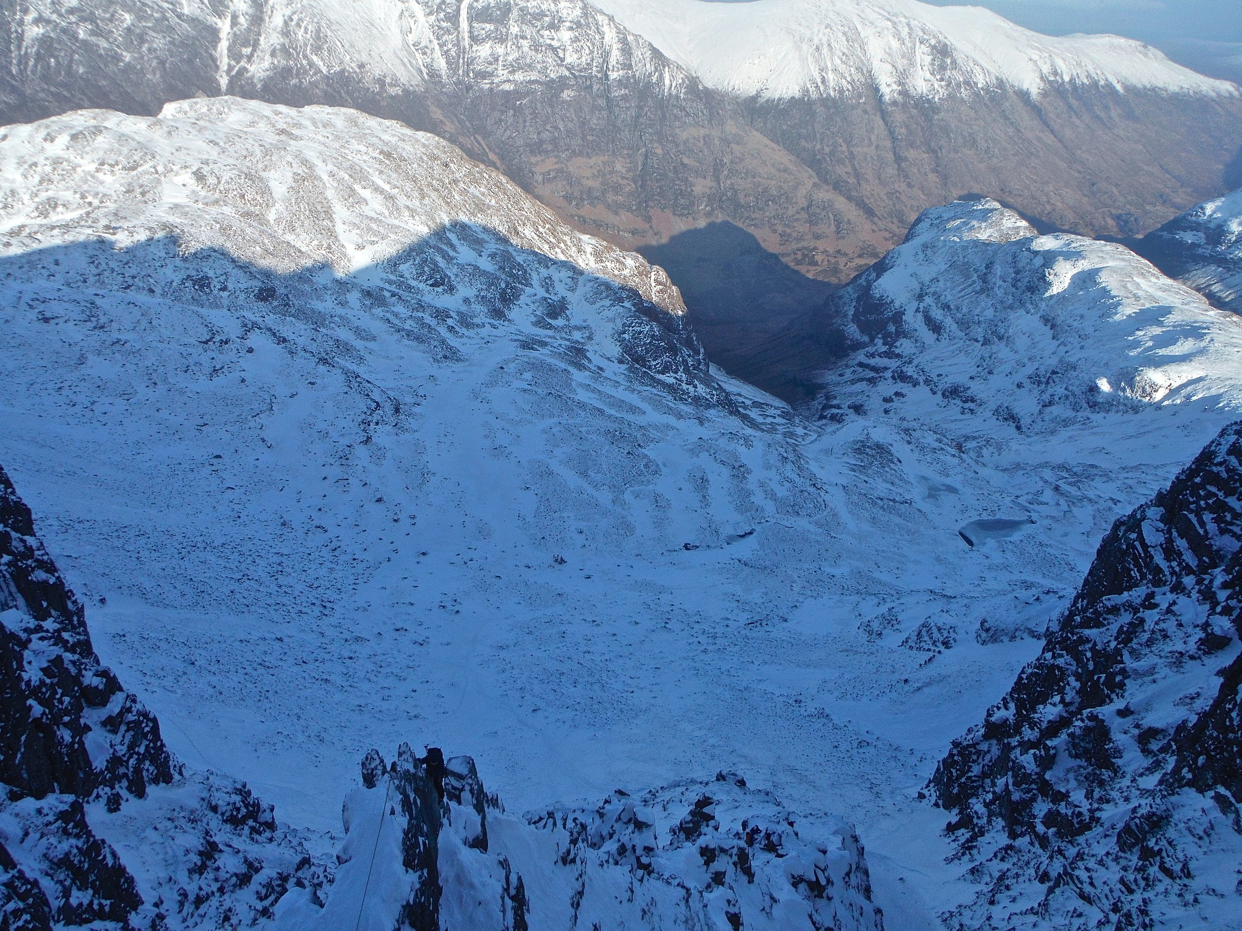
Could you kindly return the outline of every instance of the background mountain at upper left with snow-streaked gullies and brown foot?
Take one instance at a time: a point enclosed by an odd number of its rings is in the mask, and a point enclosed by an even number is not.
[[[4,122],[196,94],[349,106],[443,135],[616,242],[724,216],[838,257],[883,238],[585,0],[21,0],[0,20]]]

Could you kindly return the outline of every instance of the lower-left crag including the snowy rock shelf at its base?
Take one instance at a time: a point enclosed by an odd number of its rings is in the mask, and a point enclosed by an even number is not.
[[[2,469],[0,746],[0,927],[248,927],[315,880],[245,785],[183,773]]]

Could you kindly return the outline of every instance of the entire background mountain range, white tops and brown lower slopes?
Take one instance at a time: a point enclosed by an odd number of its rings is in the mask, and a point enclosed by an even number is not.
[[[16,0],[0,10],[0,119],[196,94],[400,119],[579,230],[626,248],[681,233],[669,271],[723,320],[709,351],[748,374],[773,329],[754,318],[779,326],[786,309],[748,298],[770,263],[696,283],[710,223],[845,282],[971,192],[1053,227],[1145,232],[1218,194],[1242,148],[1232,84],[1115,37],[903,0],[601,2]]]

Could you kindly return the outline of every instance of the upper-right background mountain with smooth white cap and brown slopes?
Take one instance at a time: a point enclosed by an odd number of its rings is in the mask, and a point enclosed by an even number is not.
[[[1117,36],[1042,36],[987,10],[917,0],[599,5],[744,101],[751,125],[825,184],[902,228],[981,191],[1049,226],[1134,235],[1167,217],[1150,194],[1180,200],[1191,176],[1216,192],[1242,144],[1235,84]],[[1172,137],[1176,171],[1166,170]]]

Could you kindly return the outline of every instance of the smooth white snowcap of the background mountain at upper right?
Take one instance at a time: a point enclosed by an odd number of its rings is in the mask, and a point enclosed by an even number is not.
[[[1119,36],[1052,37],[981,7],[917,0],[595,0],[709,87],[768,98],[938,99],[1049,86],[1230,94],[1238,89]]]

